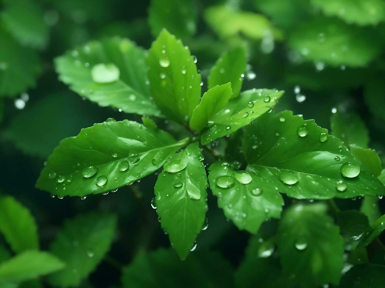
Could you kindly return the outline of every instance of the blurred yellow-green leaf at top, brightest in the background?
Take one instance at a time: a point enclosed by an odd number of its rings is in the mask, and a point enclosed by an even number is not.
[[[239,34],[257,40],[265,36],[273,36],[277,39],[282,38],[282,32],[274,28],[264,15],[236,11],[230,5],[206,8],[204,19],[222,38]]]

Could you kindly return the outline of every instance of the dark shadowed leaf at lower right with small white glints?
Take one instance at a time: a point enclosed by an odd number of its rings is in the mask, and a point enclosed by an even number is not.
[[[338,212],[336,218],[345,249],[356,249],[364,232],[370,229],[368,217],[357,210],[345,210]]]

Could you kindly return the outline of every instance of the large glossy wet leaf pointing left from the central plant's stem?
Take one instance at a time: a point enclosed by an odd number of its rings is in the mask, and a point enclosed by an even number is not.
[[[128,120],[94,124],[60,142],[36,187],[61,197],[114,190],[155,172],[186,141]]]

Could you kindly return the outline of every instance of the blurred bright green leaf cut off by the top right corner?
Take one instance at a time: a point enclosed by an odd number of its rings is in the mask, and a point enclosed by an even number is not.
[[[385,20],[382,0],[311,0],[327,16],[336,16],[346,23],[377,25]]]

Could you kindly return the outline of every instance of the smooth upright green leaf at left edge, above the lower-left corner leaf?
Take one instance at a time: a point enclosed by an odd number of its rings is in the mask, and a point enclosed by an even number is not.
[[[10,196],[0,198],[0,232],[15,253],[39,249],[35,218]]]

